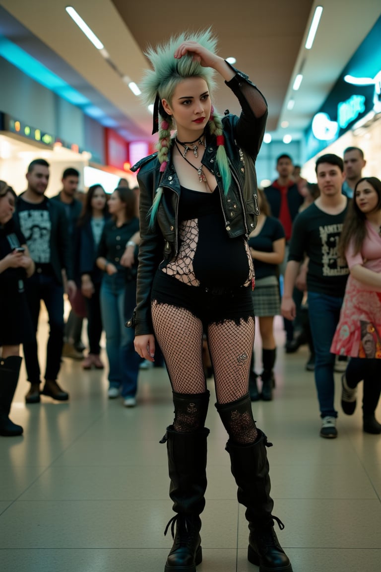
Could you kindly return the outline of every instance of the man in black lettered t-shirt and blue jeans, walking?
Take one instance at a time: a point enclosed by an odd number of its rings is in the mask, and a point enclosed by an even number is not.
[[[346,260],[339,258],[337,249],[348,199],[342,194],[342,158],[325,154],[316,161],[315,170],[320,196],[294,221],[284,276],[282,315],[290,320],[295,317],[292,290],[300,263],[306,256],[302,272],[307,275],[308,312],[316,355],[315,383],[322,418],[320,436],[335,438],[338,415],[334,407],[335,356],[330,348],[349,273]]]

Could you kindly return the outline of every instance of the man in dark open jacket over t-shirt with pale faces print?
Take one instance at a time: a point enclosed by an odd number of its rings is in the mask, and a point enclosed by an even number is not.
[[[26,299],[37,335],[41,300],[49,315],[49,339],[46,350],[45,386],[42,394],[66,401],[69,395],[57,383],[61,366],[63,343],[63,285],[62,270],[67,275],[67,290],[75,292],[73,268],[67,243],[67,217],[65,209],[57,201],[45,196],[49,182],[49,163],[35,159],[26,173],[28,186],[19,197],[14,214],[15,224],[26,238],[30,256],[36,271],[25,284]],[[23,344],[27,378],[30,390],[26,403],[40,401],[40,367],[37,337]]]

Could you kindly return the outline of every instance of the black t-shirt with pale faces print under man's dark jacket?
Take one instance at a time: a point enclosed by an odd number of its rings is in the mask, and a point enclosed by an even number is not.
[[[31,259],[37,264],[49,264],[51,221],[47,199],[34,204],[19,197],[17,210],[21,232],[25,236]]]

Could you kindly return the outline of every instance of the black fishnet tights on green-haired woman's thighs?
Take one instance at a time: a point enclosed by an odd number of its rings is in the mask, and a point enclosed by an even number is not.
[[[179,394],[206,391],[202,362],[202,321],[189,310],[153,301],[155,335],[166,360],[173,390]],[[230,403],[247,394],[254,345],[254,318],[226,320],[207,327],[216,399]]]

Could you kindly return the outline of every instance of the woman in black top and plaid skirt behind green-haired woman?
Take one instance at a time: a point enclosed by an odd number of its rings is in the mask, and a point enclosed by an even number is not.
[[[254,351],[249,378],[251,401],[271,401],[275,386],[274,366],[276,344],[274,337],[274,316],[280,315],[280,292],[278,264],[283,262],[286,239],[282,224],[270,216],[270,206],[262,189],[258,189],[260,215],[256,228],[248,237],[248,246],[255,269],[255,289],[252,293],[254,313],[258,317],[262,339],[262,366],[260,374],[262,391],[257,386],[258,376],[254,370]]]

